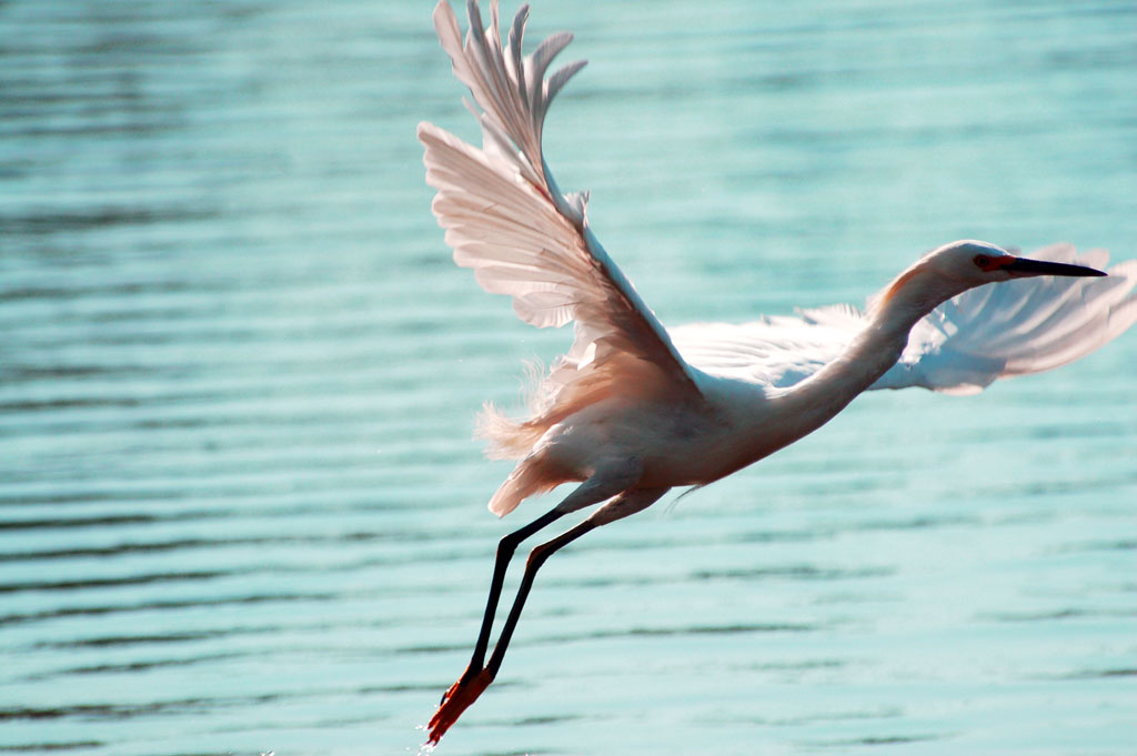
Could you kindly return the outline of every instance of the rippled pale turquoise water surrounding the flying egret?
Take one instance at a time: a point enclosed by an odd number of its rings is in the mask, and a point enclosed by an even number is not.
[[[570,341],[430,215],[416,122],[475,135],[430,11],[0,3],[0,751],[416,751],[549,504],[485,512],[474,414]],[[964,236],[1137,257],[1128,0],[537,2],[561,28],[548,160],[664,323]],[[589,535],[439,753],[1137,751],[1135,365],[866,396]]]

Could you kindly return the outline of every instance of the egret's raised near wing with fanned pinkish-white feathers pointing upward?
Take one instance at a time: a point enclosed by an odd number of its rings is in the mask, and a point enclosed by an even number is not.
[[[512,297],[526,323],[575,322],[572,349],[541,384],[534,416],[521,424],[489,417],[487,434],[499,456],[523,454],[534,435],[604,396],[702,396],[666,331],[589,230],[587,194],[562,196],[549,173],[541,155],[545,114],[584,63],[546,80],[572,35],[555,34],[522,57],[528,14],[528,7],[517,13],[503,47],[497,0],[489,30],[470,0],[463,44],[454,11],[440,0],[434,28],[455,76],[474,97],[476,106],[466,105],[481,124],[483,146],[418,125],[426,182],[438,189],[431,207],[455,263],[473,268],[487,291]]]

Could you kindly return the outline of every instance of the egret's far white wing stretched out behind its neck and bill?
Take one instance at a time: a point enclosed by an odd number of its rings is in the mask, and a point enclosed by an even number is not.
[[[1069,244],[1031,257],[1097,268],[1109,261],[1104,250],[1078,257]],[[997,379],[1060,367],[1137,322],[1135,286],[1137,260],[1106,277],[1043,276],[971,289],[916,323],[901,359],[871,388],[976,393]],[[672,338],[698,369],[781,389],[836,358],[866,325],[861,310],[835,306],[742,325],[680,326]]]

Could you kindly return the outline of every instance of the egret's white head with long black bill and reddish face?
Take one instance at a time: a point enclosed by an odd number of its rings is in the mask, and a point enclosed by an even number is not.
[[[1038,275],[1102,276],[1105,273],[1082,265],[1016,257],[985,241],[955,241],[928,252],[897,276],[877,298],[875,307],[891,304],[926,314],[969,289]]]

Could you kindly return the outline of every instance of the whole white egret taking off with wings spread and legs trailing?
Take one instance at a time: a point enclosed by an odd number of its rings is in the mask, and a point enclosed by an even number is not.
[[[473,102],[482,147],[420,123],[431,209],[455,263],[513,300],[537,327],[573,323],[573,341],[540,377],[529,416],[487,405],[479,432],[492,458],[517,459],[489,500],[498,516],[563,483],[555,507],[500,539],[489,596],[465,672],[429,728],[437,745],[493,681],[541,565],[586,533],[641,512],[674,488],[702,487],[798,441],[854,398],[920,387],[974,393],[997,379],[1059,367],[1137,321],[1137,260],[1103,272],[1104,250],[1053,244],[1031,257],[962,240],[919,257],[868,300],[744,324],[667,330],[596,239],[589,196],[563,193],[541,132],[554,97],[584,66],[550,76],[572,40],[553,34],[528,56],[523,6],[503,41],[497,0],[483,27],[467,2],[465,41],[440,0],[434,28]],[[996,284],[996,285],[987,285]],[[536,546],[487,661],[506,570],[553,522],[586,518]]]

